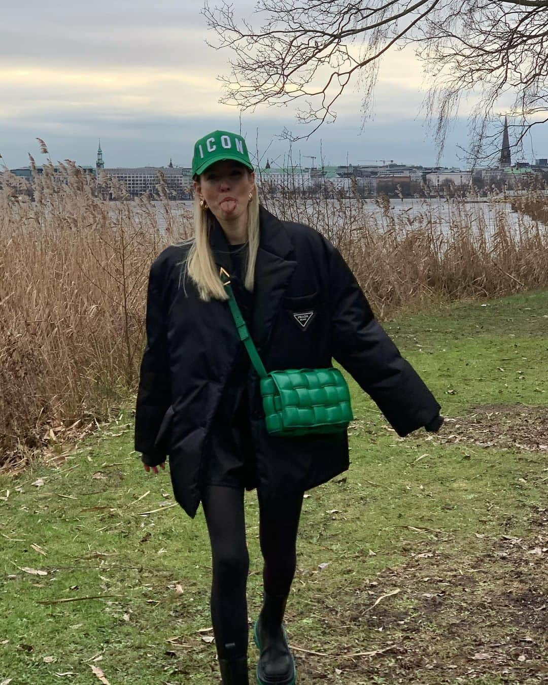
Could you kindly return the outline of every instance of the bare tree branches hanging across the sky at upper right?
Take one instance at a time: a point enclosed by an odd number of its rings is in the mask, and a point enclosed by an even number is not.
[[[297,119],[312,128],[292,140],[334,121],[352,82],[366,116],[379,62],[406,46],[423,64],[423,106],[439,154],[464,96],[476,99],[471,161],[499,132],[501,112],[512,119],[516,147],[548,113],[548,0],[258,0],[258,25],[237,21],[226,1],[206,0],[203,14],[216,36],[210,45],[232,52],[232,71],[219,77],[222,101],[240,111],[303,102]]]

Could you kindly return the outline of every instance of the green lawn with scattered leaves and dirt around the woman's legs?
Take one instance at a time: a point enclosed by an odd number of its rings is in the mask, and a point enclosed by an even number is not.
[[[448,421],[398,438],[351,380],[351,467],[301,515],[297,682],[547,682],[548,291],[386,329]],[[203,512],[144,472],[129,407],[56,463],[0,477],[0,684],[219,682]],[[255,682],[251,630],[249,656]]]

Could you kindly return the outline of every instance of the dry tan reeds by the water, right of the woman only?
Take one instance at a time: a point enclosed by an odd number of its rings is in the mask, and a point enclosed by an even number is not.
[[[473,190],[442,202],[416,199],[412,212],[391,209],[384,195],[303,201],[286,190],[263,201],[340,249],[380,319],[548,286],[546,191],[516,197],[513,220],[502,195],[490,200],[488,219]]]

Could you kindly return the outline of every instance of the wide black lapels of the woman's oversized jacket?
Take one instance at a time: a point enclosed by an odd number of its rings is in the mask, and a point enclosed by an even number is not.
[[[269,340],[275,316],[297,262],[292,242],[284,225],[273,214],[259,209],[260,240],[255,266],[251,338],[258,351]],[[228,241],[218,221],[210,229],[210,245],[217,266],[231,273]]]

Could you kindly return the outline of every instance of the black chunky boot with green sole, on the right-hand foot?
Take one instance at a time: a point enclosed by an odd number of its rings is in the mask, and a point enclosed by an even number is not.
[[[262,610],[253,626],[253,640],[260,651],[257,664],[258,685],[295,685],[295,660],[287,644],[282,622],[288,595],[264,592]]]

